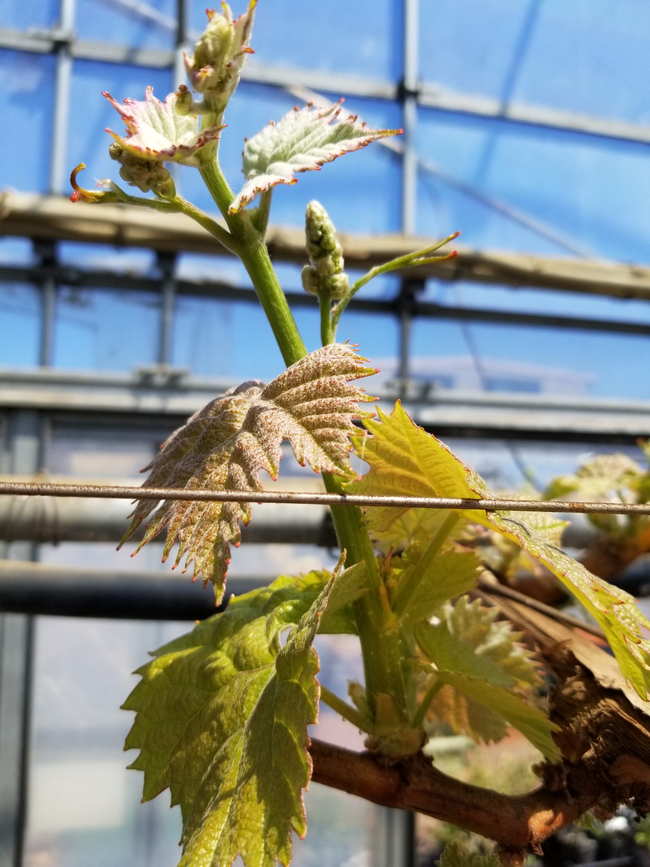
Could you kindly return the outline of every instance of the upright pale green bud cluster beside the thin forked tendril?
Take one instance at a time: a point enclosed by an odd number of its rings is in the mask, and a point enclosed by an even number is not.
[[[305,291],[311,295],[326,292],[335,300],[345,297],[349,284],[343,273],[343,250],[336,238],[335,225],[320,202],[307,205],[305,238],[310,263],[302,269]]]

